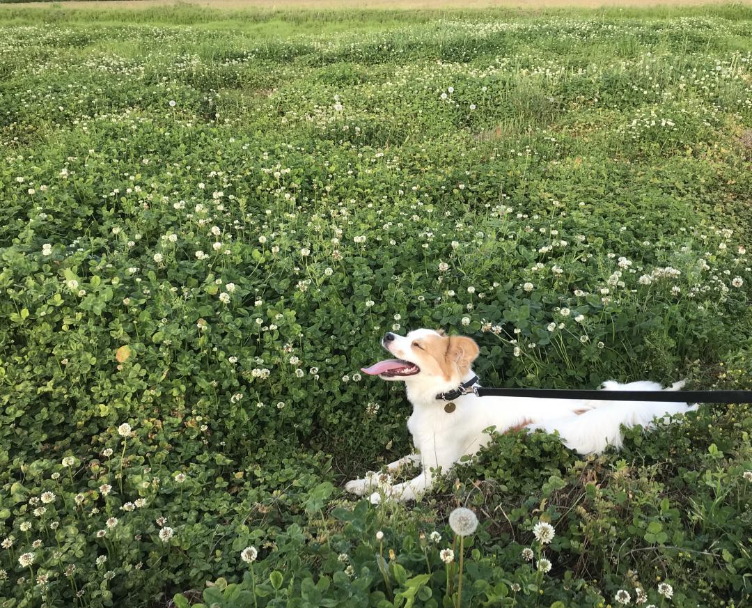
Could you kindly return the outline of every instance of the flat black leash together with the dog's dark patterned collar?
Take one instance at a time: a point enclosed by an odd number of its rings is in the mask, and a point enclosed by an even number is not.
[[[599,401],[665,401],[670,403],[752,403],[752,391],[580,391],[553,388],[481,388],[474,386],[478,376],[462,382],[459,388],[436,395],[451,401],[462,395],[476,397],[538,397],[547,399],[595,399]]]

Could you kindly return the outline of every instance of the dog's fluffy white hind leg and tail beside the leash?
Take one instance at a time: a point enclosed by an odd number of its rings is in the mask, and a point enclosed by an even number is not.
[[[623,385],[619,382],[604,382],[603,391],[679,391],[685,381],[675,382],[669,388],[662,388],[657,382],[630,382]],[[581,454],[600,453],[614,445],[617,449],[622,445],[621,425],[634,427],[638,424],[644,428],[653,428],[653,420],[661,417],[666,424],[669,416],[684,414],[697,405],[681,402],[656,401],[608,401],[593,400],[585,402],[587,411],[581,415],[567,416],[557,420],[544,421],[532,428],[541,428],[548,433],[559,432],[562,442]]]

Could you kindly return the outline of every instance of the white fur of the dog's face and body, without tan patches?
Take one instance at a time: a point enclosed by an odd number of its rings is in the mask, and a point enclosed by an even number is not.
[[[414,360],[410,345],[416,339],[430,334],[433,330],[415,330],[408,336],[395,336],[393,342],[385,345],[397,357]],[[475,374],[469,370],[462,382]],[[392,378],[384,378],[392,379]],[[454,412],[444,411],[446,402],[437,400],[436,395],[457,388],[456,379],[450,382],[440,376],[427,373],[423,369],[414,376],[394,378],[405,382],[408,400],[413,413],[408,419],[408,430],[413,436],[417,454],[410,454],[387,465],[394,472],[408,463],[420,462],[422,472],[409,482],[396,485],[382,485],[387,497],[396,500],[418,500],[432,487],[439,471],[447,473],[464,455],[475,454],[490,440],[489,427],[505,433],[525,421],[529,430],[542,429],[547,433],[558,431],[562,442],[580,454],[599,453],[608,445],[620,448],[622,434],[620,426],[633,427],[637,424],[651,427],[653,419],[661,415],[684,413],[696,406],[687,403],[629,402],[608,400],[562,400],[537,399],[534,397],[476,397],[462,395],[453,400]],[[676,382],[663,390],[678,391],[684,382]],[[604,382],[606,391],[657,391],[662,387],[656,382]],[[581,414],[575,412],[587,410]],[[383,484],[383,482],[382,482]],[[345,489],[353,494],[363,495],[378,485],[374,476],[366,479],[353,479]],[[378,503],[381,493],[371,494],[371,502]]]

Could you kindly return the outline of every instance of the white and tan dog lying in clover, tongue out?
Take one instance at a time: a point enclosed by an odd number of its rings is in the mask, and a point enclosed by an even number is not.
[[[437,399],[437,395],[454,391],[460,384],[468,385],[473,378],[477,380],[472,363],[479,348],[472,338],[422,329],[407,336],[387,333],[381,345],[398,358],[380,361],[362,368],[362,372],[390,382],[405,382],[413,406],[408,430],[417,449],[416,454],[388,464],[387,471],[396,473],[406,464],[420,464],[422,471],[415,479],[396,485],[391,485],[390,475],[370,473],[365,479],[347,482],[345,490],[359,496],[378,487],[388,499],[420,500],[432,488],[439,470],[447,473],[462,456],[475,454],[490,441],[490,427],[499,433],[522,429],[558,431],[568,448],[580,454],[599,454],[609,445],[621,447],[622,424],[650,427],[656,416],[696,409],[687,403],[477,397],[472,392],[447,403]],[[475,386],[480,385],[475,382]],[[604,392],[678,391],[683,386],[684,381],[666,389],[647,381],[609,381],[602,385]],[[371,503],[381,501],[382,491],[373,491]]]

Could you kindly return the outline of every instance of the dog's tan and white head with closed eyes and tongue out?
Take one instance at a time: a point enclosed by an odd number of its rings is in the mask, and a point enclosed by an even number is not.
[[[446,336],[442,331],[414,330],[407,336],[387,333],[381,345],[397,359],[379,361],[362,371],[384,380],[411,385],[456,388],[478,357],[478,345],[466,336]],[[448,390],[448,389],[447,389]]]

